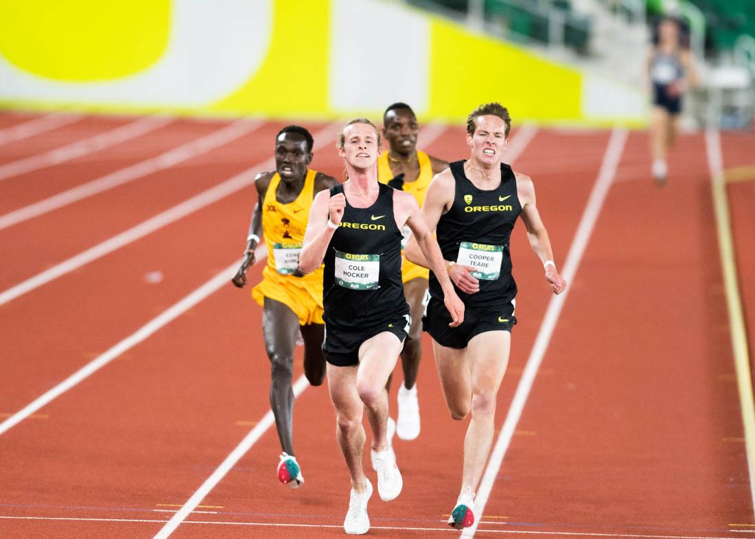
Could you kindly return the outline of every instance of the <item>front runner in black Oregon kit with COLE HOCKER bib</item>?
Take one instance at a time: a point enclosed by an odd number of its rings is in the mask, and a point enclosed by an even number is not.
[[[304,234],[299,265],[308,273],[325,260],[323,303],[328,389],[336,412],[337,439],[351,475],[349,511],[344,529],[366,533],[371,482],[362,469],[366,408],[372,430],[377,491],[396,498],[402,477],[388,445],[388,396],[385,384],[406,338],[411,319],[401,283],[401,230],[408,225],[418,249],[430,260],[451,311],[451,325],[464,320],[433,234],[411,194],[377,182],[380,133],[371,121],[357,118],[344,127],[338,149],[348,180],[317,194]]]

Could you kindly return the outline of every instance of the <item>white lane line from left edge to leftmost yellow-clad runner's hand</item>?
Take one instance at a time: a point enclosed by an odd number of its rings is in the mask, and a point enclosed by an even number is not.
[[[255,250],[254,253],[257,256],[258,260],[267,258],[267,248],[257,247],[257,250]],[[153,333],[158,329],[162,328],[172,320],[175,320],[177,317],[188,311],[194,305],[210,296],[213,292],[216,292],[217,289],[220,289],[220,286],[230,286],[230,279],[234,274],[236,274],[236,270],[239,268],[239,263],[240,261],[234,262],[232,265],[221,271],[215,277],[212,277],[210,280],[208,280],[205,284],[199,286],[198,289],[191,292],[188,296],[181,299],[174,305],[171,305],[170,308],[168,308],[166,311],[163,311],[157,317],[149,320],[148,323],[141,326],[139,329],[137,329],[136,332],[128,335],[128,337],[124,338],[118,344],[112,346],[111,348],[109,348],[109,350],[103,352],[103,354],[95,357],[94,360],[91,360],[91,362],[87,363],[81,369],[74,372],[68,378],[60,382],[60,384],[57,384],[51,390],[45,392],[45,394],[37,397],[35,400],[24,406],[14,415],[11,415],[10,418],[0,423],[0,435],[8,432],[8,430],[10,430],[12,427],[28,418],[29,415],[32,415],[34,412],[37,412],[39,409],[41,409],[42,406],[46,406],[48,403],[51,403],[52,400],[57,399],[57,397],[60,397],[60,395],[64,394],[67,390],[71,389],[76,384],[79,384],[81,381],[85,380],[85,378],[93,375],[94,372],[102,369],[103,366],[106,366],[120,354],[123,354],[125,351],[134,348],[134,346],[138,345],[141,341],[145,340],[150,335],[153,335]]]

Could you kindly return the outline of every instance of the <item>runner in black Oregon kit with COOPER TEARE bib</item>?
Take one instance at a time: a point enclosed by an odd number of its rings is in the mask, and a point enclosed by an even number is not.
[[[433,352],[445,402],[454,419],[472,415],[464,439],[464,473],[448,524],[474,522],[474,492],[485,468],[493,437],[495,401],[508,363],[516,283],[511,274],[509,240],[517,217],[527,228],[532,250],[544,264],[554,293],[566,283],[556,271],[547,231],[535,207],[532,179],[501,162],[511,119],[507,109],[488,103],[467,119],[469,161],[451,163],[427,189],[422,216],[435,230],[448,274],[464,301],[464,322],[448,327],[439,308],[445,289],[430,272],[430,303],[424,329]],[[427,267],[413,237],[405,256]]]

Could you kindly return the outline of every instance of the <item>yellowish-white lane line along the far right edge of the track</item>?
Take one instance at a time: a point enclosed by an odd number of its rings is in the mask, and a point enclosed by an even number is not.
[[[713,213],[716,216],[716,234],[721,259],[721,273],[726,290],[726,308],[729,311],[729,329],[732,339],[739,406],[744,428],[744,447],[747,455],[747,472],[750,477],[750,503],[755,515],[755,406],[750,375],[750,351],[747,345],[747,325],[744,322],[742,299],[739,293],[737,256],[732,237],[732,222],[729,213],[729,195],[726,194],[726,178],[723,172],[721,137],[716,130],[705,132],[705,149],[710,169],[710,188],[713,194]],[[750,531],[750,530],[740,530]]]

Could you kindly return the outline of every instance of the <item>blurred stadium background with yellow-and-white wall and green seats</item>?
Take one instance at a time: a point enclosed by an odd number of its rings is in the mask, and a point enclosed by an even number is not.
[[[314,119],[401,100],[458,121],[501,100],[517,121],[630,125],[646,122],[653,23],[673,14],[704,81],[684,125],[752,127],[746,0],[3,0],[0,12],[5,109]]]

